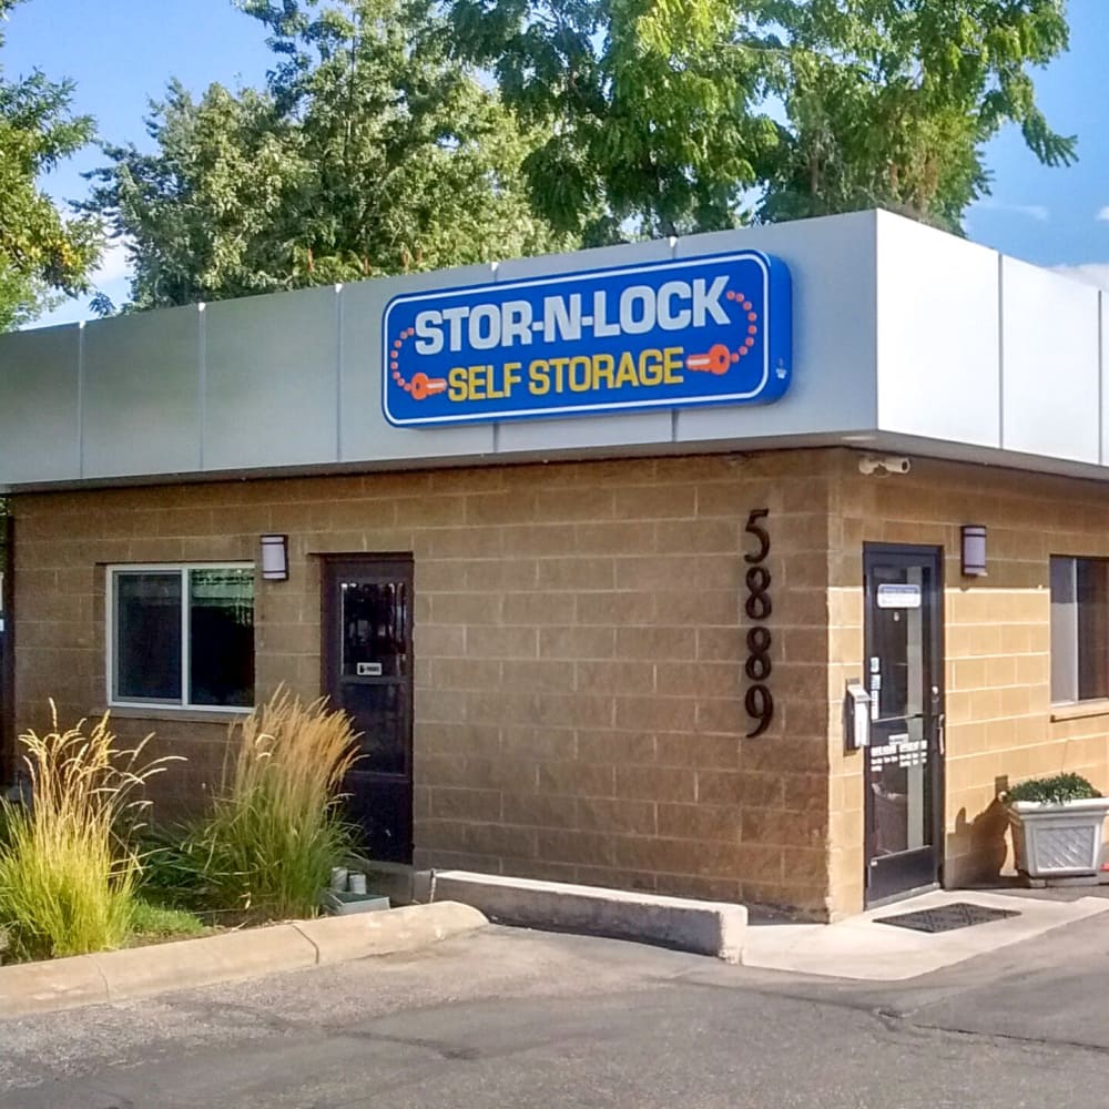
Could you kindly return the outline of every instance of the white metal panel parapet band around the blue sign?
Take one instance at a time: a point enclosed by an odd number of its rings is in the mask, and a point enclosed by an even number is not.
[[[395,427],[399,294],[755,250],[793,282],[773,404]],[[0,492],[844,444],[1109,474],[1106,297],[884,212],[359,282],[0,336]]]

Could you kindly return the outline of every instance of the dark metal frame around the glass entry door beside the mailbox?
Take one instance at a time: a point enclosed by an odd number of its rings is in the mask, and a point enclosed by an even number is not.
[[[924,637],[924,650],[927,652],[925,660],[925,673],[930,678],[930,684],[935,692],[925,689],[923,693],[924,704],[924,732],[928,744],[928,773],[932,777],[932,877],[924,883],[906,887],[895,892],[876,892],[872,896],[871,884],[871,861],[875,857],[874,843],[874,801],[871,796],[871,766],[869,751],[864,753],[863,787],[864,787],[864,887],[866,889],[866,904],[875,905],[883,901],[892,901],[905,896],[920,888],[920,886],[935,886],[943,884],[944,877],[944,838],[946,835],[946,658],[944,655],[944,548],[938,546],[923,546],[916,543],[863,543],[863,651],[864,651],[864,681],[868,681],[869,660],[872,658],[872,631],[871,606],[876,603],[876,596],[872,596],[872,580],[869,567],[872,562],[883,564],[901,563],[904,566],[920,566],[930,563],[933,567],[933,583],[929,596],[922,599],[922,603],[929,607],[928,630]],[[873,739],[872,739],[873,742]]]

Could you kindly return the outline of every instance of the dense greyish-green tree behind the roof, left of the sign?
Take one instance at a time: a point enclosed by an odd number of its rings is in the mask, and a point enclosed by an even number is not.
[[[429,0],[243,0],[264,90],[177,84],[155,153],[109,147],[90,210],[128,237],[135,307],[430,269],[570,245],[532,215],[530,138],[448,58]]]

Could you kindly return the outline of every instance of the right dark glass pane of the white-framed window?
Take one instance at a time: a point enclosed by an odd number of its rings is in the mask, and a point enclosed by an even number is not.
[[[254,704],[254,571],[189,572],[190,704]]]

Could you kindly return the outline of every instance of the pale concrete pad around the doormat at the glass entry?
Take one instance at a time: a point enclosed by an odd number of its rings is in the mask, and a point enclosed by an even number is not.
[[[967,902],[1020,915],[935,935],[877,923],[878,917]],[[790,924],[752,919],[743,947],[743,963],[769,970],[851,978],[857,981],[901,981],[929,974],[978,955],[1041,936],[1109,910],[1109,898],[1071,901],[1032,898],[1017,892],[937,889],[894,905],[871,909],[837,924]]]

